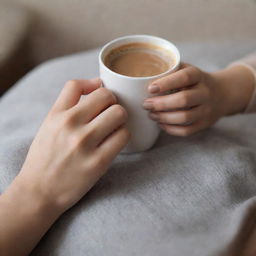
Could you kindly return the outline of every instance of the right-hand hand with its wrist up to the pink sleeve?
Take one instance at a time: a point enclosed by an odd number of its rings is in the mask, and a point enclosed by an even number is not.
[[[167,133],[187,136],[210,127],[224,115],[243,111],[252,95],[253,81],[243,66],[207,73],[183,64],[148,88],[152,94],[169,94],[148,98],[143,107]]]

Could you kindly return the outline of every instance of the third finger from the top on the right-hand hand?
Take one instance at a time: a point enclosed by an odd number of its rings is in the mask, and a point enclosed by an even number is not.
[[[203,106],[174,112],[151,112],[149,117],[162,124],[188,125],[203,118]]]

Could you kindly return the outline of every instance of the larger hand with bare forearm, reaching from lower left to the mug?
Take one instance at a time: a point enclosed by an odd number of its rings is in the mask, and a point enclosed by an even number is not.
[[[1,255],[28,255],[128,142],[126,111],[100,83],[67,82],[20,173],[0,196]]]

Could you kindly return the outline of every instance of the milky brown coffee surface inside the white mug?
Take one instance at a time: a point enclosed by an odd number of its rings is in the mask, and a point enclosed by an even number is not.
[[[112,71],[132,77],[154,76],[176,63],[174,54],[157,45],[130,43],[109,52],[104,64]]]

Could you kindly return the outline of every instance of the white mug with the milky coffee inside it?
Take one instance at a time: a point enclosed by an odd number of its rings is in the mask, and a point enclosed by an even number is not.
[[[160,128],[148,117],[143,101],[152,97],[148,86],[154,80],[176,71],[180,54],[171,42],[150,35],[131,35],[107,43],[99,54],[100,78],[128,112],[127,128],[131,132],[123,153],[150,149]]]

